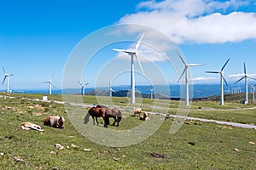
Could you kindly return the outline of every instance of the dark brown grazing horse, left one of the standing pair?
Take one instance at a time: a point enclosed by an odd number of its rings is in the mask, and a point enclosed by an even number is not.
[[[108,127],[109,124],[109,117],[106,111],[102,108],[91,107],[88,111],[87,115],[84,116],[84,124],[89,122],[89,117],[92,116],[93,124],[95,125],[94,117],[96,117],[97,125],[99,124],[97,117],[102,117],[104,120],[104,127]]]

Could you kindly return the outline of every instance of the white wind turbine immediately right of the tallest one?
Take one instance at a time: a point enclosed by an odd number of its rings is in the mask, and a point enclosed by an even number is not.
[[[177,55],[182,60],[183,64],[185,65],[185,68],[181,74],[181,76],[178,78],[177,82],[181,80],[183,75],[185,74],[185,85],[186,85],[186,96],[185,96],[185,105],[189,105],[189,75],[188,75],[188,69],[189,66],[201,66],[203,64],[187,64],[186,61],[183,59],[179,51],[177,51]]]

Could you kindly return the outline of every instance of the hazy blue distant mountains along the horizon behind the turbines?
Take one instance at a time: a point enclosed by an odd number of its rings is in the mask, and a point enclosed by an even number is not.
[[[250,87],[250,86],[249,86]],[[116,93],[112,93],[116,97],[129,96],[130,86],[113,86]],[[235,88],[240,88],[240,92],[244,93],[244,84],[230,84],[230,87],[224,86],[224,94],[232,94]],[[154,98],[158,99],[184,99],[185,87],[180,84],[154,85],[154,86],[136,86],[136,96],[150,98],[150,89],[154,89]],[[250,91],[250,88],[249,88]],[[4,90],[3,90],[4,92]],[[13,89],[14,94],[48,94],[48,89]],[[189,86],[190,97],[193,99],[208,98],[218,96],[220,94],[219,84],[194,84]],[[81,88],[52,89],[52,94],[81,94]],[[109,95],[108,87],[102,88],[85,88],[85,94],[88,95]],[[218,97],[216,97],[218,99]]]

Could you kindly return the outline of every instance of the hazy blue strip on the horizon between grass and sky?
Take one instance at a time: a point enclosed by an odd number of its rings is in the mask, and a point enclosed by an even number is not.
[[[251,92],[251,85],[248,85],[248,92]],[[120,86],[113,86],[112,87],[115,92],[121,90],[130,90],[129,85],[120,85]],[[137,93],[140,94],[150,94],[150,89],[154,88],[154,94],[161,94],[165,95],[168,98],[183,98],[181,94],[184,94],[184,86],[180,86],[179,84],[170,84],[169,86],[166,85],[138,85],[136,86]],[[93,90],[104,90],[109,92],[108,87],[102,88],[85,88],[85,94],[93,91]],[[193,91],[193,97],[192,95]],[[5,90],[0,90],[0,92],[5,92]],[[244,93],[245,87],[244,84],[231,84],[229,87],[224,87],[224,94],[234,94],[234,93]],[[12,89],[12,94],[49,94],[49,89],[47,88],[35,88],[35,89]],[[193,84],[189,86],[189,93],[191,98],[198,99],[198,98],[205,98],[214,95],[220,94],[220,85],[217,83],[206,83],[206,84]],[[52,89],[52,94],[81,94],[81,88],[67,88],[67,89]]]

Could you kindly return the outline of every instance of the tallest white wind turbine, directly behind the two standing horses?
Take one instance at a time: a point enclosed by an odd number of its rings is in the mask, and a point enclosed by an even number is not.
[[[143,75],[144,75],[143,66],[142,66],[139,58],[137,57],[137,48],[139,48],[139,46],[140,46],[140,44],[143,40],[143,37],[144,37],[144,33],[140,37],[139,41],[137,42],[134,50],[113,48],[113,51],[122,52],[122,53],[131,55],[131,104],[135,103],[134,57],[136,57],[137,63],[140,66],[140,69],[141,69],[141,71],[143,72]]]

